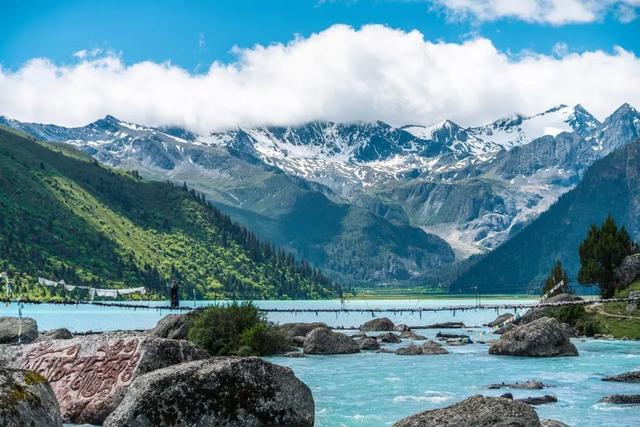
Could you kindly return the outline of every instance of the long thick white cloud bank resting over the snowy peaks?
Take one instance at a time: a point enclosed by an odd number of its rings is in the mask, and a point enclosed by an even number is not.
[[[310,120],[480,124],[560,103],[602,118],[623,102],[640,105],[640,59],[622,48],[514,58],[484,38],[442,43],[418,31],[337,25],[235,52],[236,62],[204,74],[126,65],[108,53],[71,65],[34,59],[0,69],[0,114],[67,126],[112,114],[204,132]]]

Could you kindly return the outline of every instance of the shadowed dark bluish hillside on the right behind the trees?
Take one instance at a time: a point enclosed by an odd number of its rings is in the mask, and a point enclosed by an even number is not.
[[[608,215],[633,240],[640,239],[640,141],[595,162],[576,188],[461,274],[452,290],[477,285],[483,292],[537,291],[556,260],[574,279],[580,242],[591,224],[601,224]]]

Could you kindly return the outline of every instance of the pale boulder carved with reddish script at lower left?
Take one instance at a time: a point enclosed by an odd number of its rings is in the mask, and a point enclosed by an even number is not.
[[[45,377],[67,423],[102,424],[131,382],[156,369],[208,357],[184,340],[114,332],[0,346],[0,365]]]

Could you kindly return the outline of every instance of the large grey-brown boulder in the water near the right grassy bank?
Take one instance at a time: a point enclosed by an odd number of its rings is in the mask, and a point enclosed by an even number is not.
[[[577,356],[569,334],[556,319],[543,317],[505,332],[489,354],[508,356]]]

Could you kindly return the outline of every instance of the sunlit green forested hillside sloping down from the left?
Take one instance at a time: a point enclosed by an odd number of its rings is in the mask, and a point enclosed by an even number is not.
[[[178,279],[200,298],[335,297],[337,285],[186,186],[144,182],[0,128],[0,271],[94,287]],[[47,290],[48,291],[48,290]],[[42,290],[38,292],[43,292]],[[74,291],[77,292],[77,291]]]

